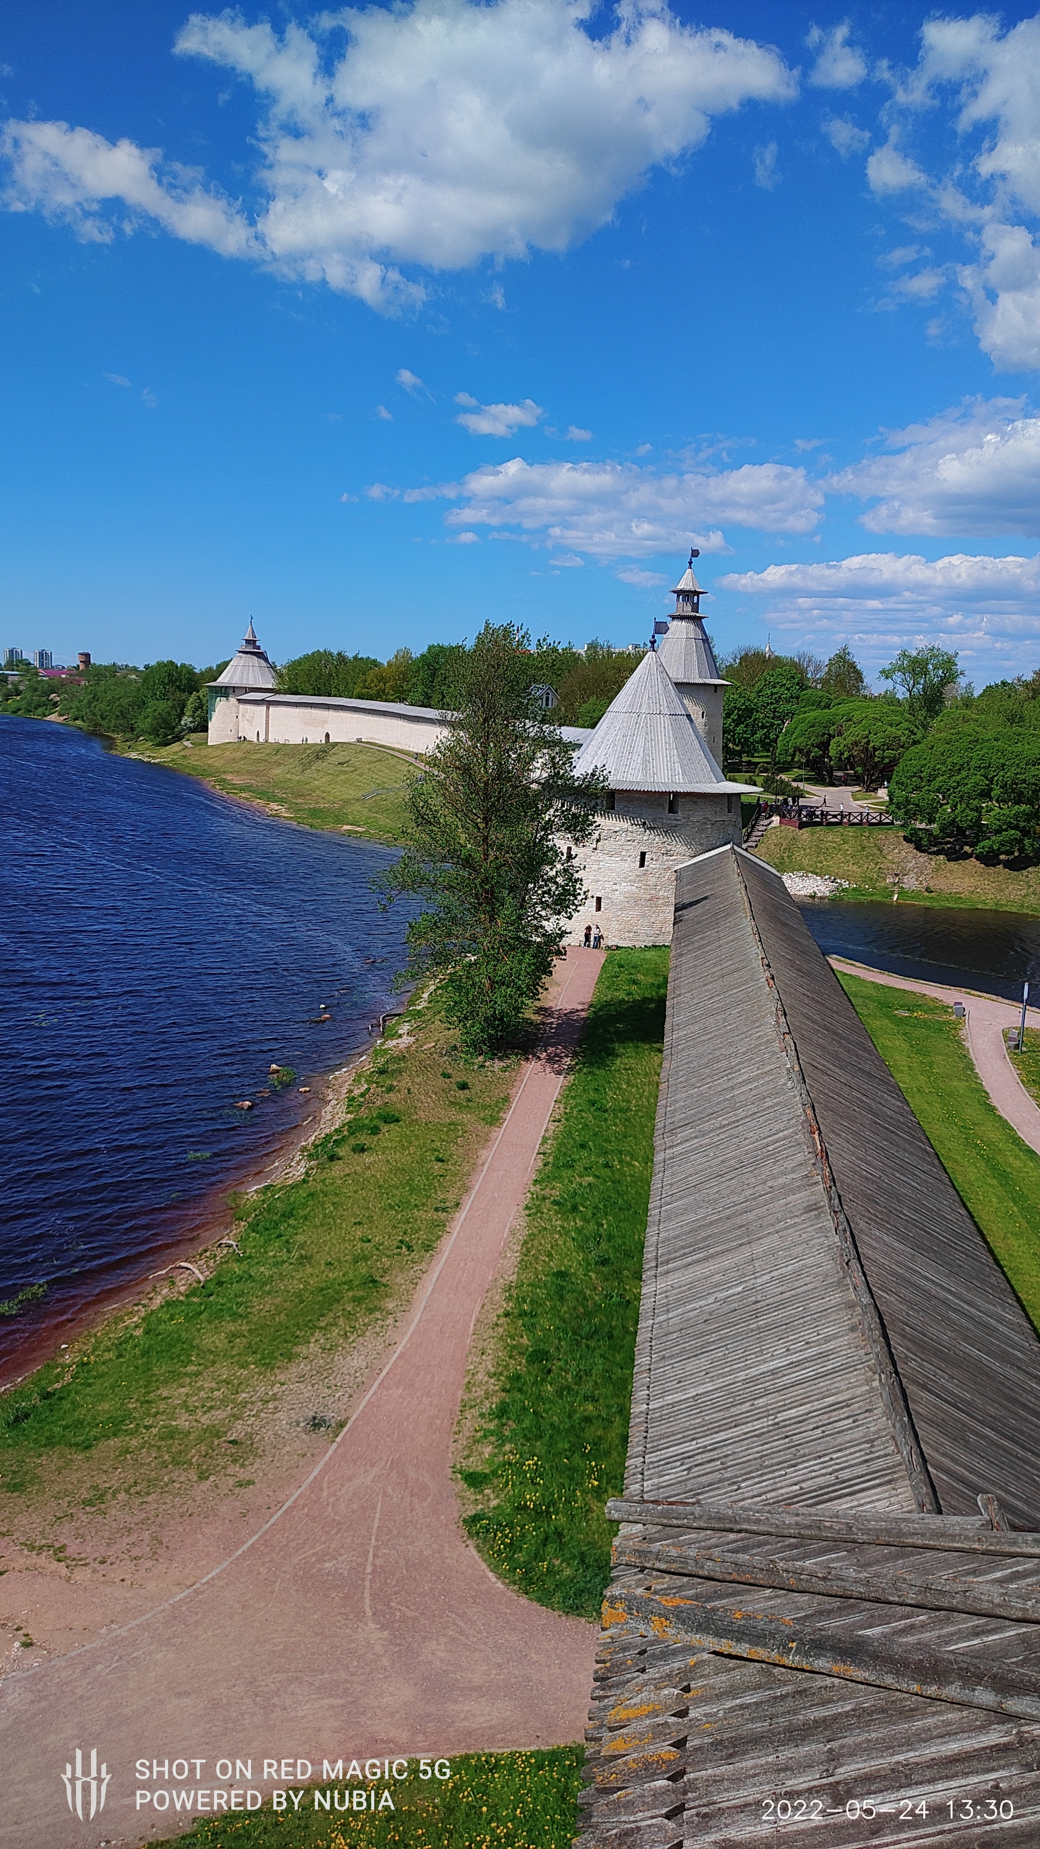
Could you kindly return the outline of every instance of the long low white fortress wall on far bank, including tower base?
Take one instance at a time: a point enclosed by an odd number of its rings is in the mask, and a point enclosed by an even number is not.
[[[209,743],[241,738],[250,745],[394,745],[398,751],[431,751],[444,727],[433,716],[402,712],[387,701],[307,699],[259,693],[218,701],[209,721]]]

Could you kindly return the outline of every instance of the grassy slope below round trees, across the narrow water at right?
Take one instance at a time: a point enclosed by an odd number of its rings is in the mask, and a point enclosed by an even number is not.
[[[770,828],[759,856],[779,873],[831,873],[849,880],[849,899],[890,899],[892,876],[899,873],[901,895],[914,904],[1040,912],[1040,867],[1010,873],[977,860],[918,854],[899,828]]]

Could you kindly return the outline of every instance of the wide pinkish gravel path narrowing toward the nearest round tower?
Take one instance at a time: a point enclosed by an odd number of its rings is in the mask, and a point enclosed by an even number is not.
[[[263,1760],[444,1755],[581,1740],[596,1629],[503,1586],[470,1548],[452,1481],[466,1350],[501,1263],[603,963],[572,949],[505,1122],[426,1274],[390,1361],[289,1503],[200,1585],[0,1686],[0,1843],[83,1849],[172,1834],[135,1810],[133,1766],[205,1760],[178,1788],[305,1784]],[[93,1747],[104,1818],[61,1775]],[[217,1760],[252,1760],[220,1779]],[[174,1779],[159,1779],[159,1788]]]

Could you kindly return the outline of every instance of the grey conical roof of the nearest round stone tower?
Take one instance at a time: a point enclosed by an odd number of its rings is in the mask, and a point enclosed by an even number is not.
[[[653,649],[577,753],[574,769],[605,771],[611,790],[725,795],[751,788],[725,780]]]

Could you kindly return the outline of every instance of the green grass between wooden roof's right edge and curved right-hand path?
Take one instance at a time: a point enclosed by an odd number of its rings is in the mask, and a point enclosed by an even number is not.
[[[1040,1329],[1040,1156],[990,1104],[951,1008],[859,976],[838,980]]]

